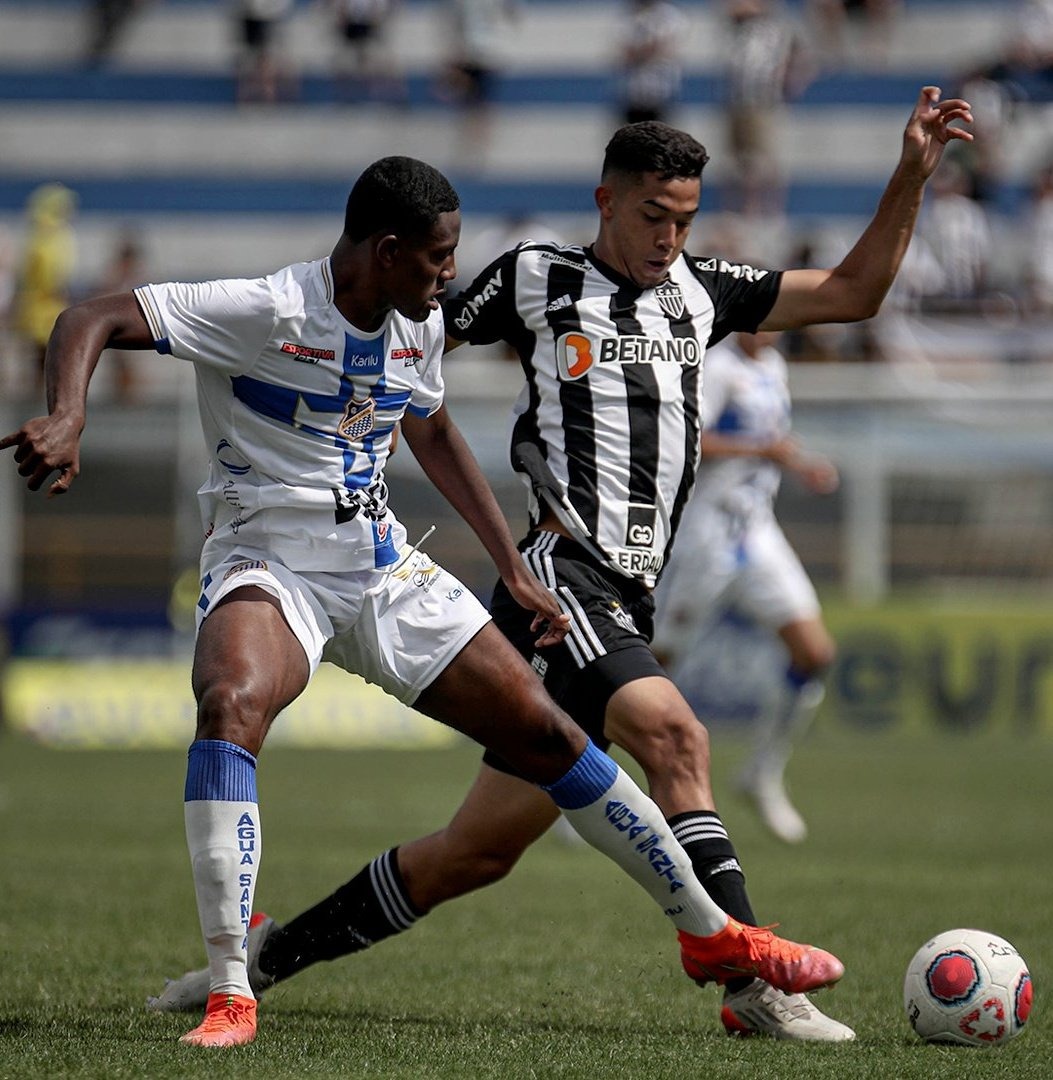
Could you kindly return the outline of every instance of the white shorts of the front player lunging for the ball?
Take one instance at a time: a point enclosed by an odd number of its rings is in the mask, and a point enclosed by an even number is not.
[[[403,548],[382,570],[294,571],[273,555],[210,543],[198,625],[228,593],[258,585],[275,596],[313,675],[342,667],[411,705],[489,622],[475,595],[423,552]]]

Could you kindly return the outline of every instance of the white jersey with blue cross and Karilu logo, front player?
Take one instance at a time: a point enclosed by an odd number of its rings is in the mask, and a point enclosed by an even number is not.
[[[403,414],[442,405],[442,314],[417,323],[392,311],[361,330],[333,302],[327,258],[135,293],[157,350],[194,365],[206,534],[294,570],[394,562],[405,530],[388,508],[384,463]]]

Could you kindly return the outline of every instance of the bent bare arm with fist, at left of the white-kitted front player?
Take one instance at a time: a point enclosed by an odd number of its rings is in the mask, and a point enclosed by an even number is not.
[[[38,491],[52,473],[58,478],[49,496],[63,495],[80,472],[87,384],[103,350],[150,349],[153,338],[132,293],[104,296],[67,308],[48,341],[44,376],[48,416],[27,420],[0,438],[0,449],[15,447],[18,473]]]

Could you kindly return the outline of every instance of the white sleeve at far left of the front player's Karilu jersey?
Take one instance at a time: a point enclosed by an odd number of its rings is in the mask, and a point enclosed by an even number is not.
[[[276,323],[274,294],[262,278],[143,285],[135,296],[158,352],[227,375],[252,367]]]

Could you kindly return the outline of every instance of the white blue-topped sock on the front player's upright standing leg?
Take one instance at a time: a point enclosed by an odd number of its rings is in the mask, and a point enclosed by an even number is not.
[[[251,998],[246,946],[261,840],[255,757],[216,739],[193,743],[185,798],[210,993]]]

